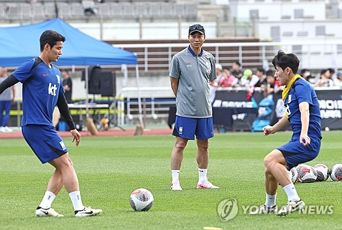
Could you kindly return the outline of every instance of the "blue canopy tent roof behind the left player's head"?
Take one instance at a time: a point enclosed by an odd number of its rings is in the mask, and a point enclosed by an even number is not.
[[[52,29],[66,37],[58,66],[137,64],[137,57],[96,40],[60,18],[21,27],[0,27],[0,66],[20,66],[40,54],[39,38]]]

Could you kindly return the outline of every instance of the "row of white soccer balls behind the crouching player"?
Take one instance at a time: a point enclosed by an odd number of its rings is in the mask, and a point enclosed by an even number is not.
[[[289,171],[289,175],[293,184],[295,182],[325,182],[329,176],[334,182],[339,182],[342,181],[342,164],[334,164],[330,170],[325,164],[316,164],[315,166],[300,164],[298,167],[293,167]]]

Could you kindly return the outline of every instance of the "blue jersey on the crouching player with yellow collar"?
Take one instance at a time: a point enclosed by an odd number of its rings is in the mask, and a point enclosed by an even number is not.
[[[307,81],[301,78],[293,84],[295,86],[291,87],[285,99],[285,110],[293,130],[292,140],[298,140],[302,131],[299,108],[299,104],[302,102],[308,102],[309,104],[308,136],[311,139],[321,139],[321,112],[315,90]]]

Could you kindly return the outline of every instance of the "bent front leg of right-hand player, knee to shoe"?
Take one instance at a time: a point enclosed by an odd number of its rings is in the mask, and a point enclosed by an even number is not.
[[[285,190],[289,201],[287,205],[278,212],[278,215],[287,215],[291,212],[303,209],[305,207],[305,203],[300,199],[297,190],[295,190],[295,186],[291,182],[289,173],[285,167],[287,165],[287,161],[285,160],[282,152],[278,149],[274,149],[265,156],[263,162],[267,170],[272,173],[276,181],[278,181]]]

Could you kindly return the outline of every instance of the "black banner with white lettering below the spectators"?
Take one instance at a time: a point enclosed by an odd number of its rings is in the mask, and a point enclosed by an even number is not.
[[[213,102],[213,124],[233,128],[237,121],[246,121],[253,123],[252,131],[261,131],[262,126],[276,124],[284,115],[284,103],[280,93],[273,95],[273,98],[267,98],[273,100],[274,103],[270,104],[269,101],[265,103],[267,100],[259,91],[248,94],[245,90],[218,90]],[[316,94],[321,109],[321,128],[342,130],[342,89],[316,90]],[[176,108],[170,108],[170,127],[174,123],[175,113]],[[250,119],[254,121],[251,122]],[[285,129],[291,129],[291,126]]]

